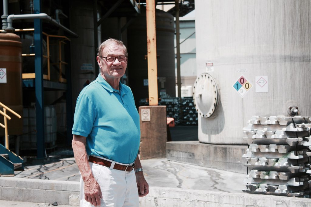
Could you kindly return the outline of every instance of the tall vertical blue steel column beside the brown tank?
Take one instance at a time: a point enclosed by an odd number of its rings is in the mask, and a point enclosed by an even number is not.
[[[41,0],[34,0],[35,14],[41,11]],[[35,94],[36,94],[36,130],[37,158],[45,158],[44,145],[44,101],[43,101],[43,67],[42,67],[42,21],[34,20],[35,39]]]

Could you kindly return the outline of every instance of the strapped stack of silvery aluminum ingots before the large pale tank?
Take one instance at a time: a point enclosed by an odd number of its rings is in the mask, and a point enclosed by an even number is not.
[[[310,117],[253,116],[243,128],[249,145],[244,192],[309,198],[310,128]]]

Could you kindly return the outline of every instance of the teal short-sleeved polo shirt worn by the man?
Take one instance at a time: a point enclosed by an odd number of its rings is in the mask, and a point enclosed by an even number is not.
[[[72,134],[86,137],[86,152],[115,162],[135,161],[139,143],[139,114],[131,89],[112,88],[99,74],[77,99]]]

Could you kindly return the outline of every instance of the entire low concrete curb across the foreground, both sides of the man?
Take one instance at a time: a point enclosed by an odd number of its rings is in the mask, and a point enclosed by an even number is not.
[[[79,206],[79,182],[0,177],[0,200]],[[140,198],[140,206],[307,207],[311,199],[150,187],[149,194]]]

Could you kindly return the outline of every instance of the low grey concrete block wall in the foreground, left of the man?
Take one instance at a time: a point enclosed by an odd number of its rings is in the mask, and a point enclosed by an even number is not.
[[[79,182],[0,177],[0,200],[80,205]]]

